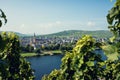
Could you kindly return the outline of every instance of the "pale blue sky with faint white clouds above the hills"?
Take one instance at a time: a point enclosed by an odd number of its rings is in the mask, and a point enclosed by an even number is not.
[[[65,30],[108,30],[110,0],[0,0],[8,19],[0,31],[51,34]]]

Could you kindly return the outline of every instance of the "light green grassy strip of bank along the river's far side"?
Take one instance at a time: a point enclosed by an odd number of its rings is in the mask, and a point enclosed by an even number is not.
[[[62,54],[62,51],[60,51],[60,50],[43,51],[40,54],[37,54],[37,53],[21,53],[20,55],[22,57],[34,57],[34,56],[58,55],[58,54]]]

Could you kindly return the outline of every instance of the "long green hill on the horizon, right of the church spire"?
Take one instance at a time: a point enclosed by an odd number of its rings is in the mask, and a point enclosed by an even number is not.
[[[58,33],[42,35],[48,37],[81,37],[83,35],[91,35],[98,38],[109,38],[112,33],[108,30],[96,30],[96,31],[83,31],[83,30],[68,30]]]

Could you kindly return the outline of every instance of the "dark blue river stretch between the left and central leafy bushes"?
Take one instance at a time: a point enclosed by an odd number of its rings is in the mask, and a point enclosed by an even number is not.
[[[35,80],[41,80],[42,76],[49,74],[54,69],[60,69],[62,55],[47,55],[40,57],[29,57],[27,61],[31,63],[35,70]]]

